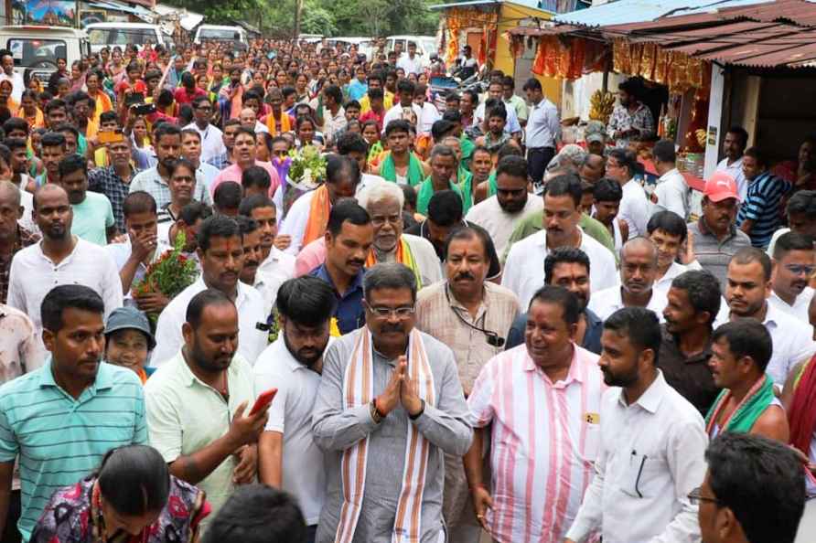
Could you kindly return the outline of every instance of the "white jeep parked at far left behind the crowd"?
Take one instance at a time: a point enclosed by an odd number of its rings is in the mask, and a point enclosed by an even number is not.
[[[91,54],[88,34],[68,27],[0,27],[0,44],[11,51],[15,72],[25,76],[28,70],[41,81],[57,71],[57,59],[65,59],[70,66]]]

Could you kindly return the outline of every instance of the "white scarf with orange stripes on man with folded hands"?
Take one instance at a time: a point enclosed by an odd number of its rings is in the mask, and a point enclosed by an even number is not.
[[[373,339],[369,328],[357,332],[354,351],[343,375],[343,409],[349,410],[370,404],[374,399]],[[434,375],[425,354],[422,336],[416,329],[408,338],[408,372],[416,383],[417,394],[427,405],[435,405]],[[343,452],[340,477],[343,484],[343,505],[335,535],[337,543],[351,543],[360,518],[365,495],[366,467],[369,439],[355,443]],[[392,543],[417,543],[422,532],[422,500],[428,466],[430,442],[415,424],[408,424],[405,439],[405,465],[402,489],[397,503]]]

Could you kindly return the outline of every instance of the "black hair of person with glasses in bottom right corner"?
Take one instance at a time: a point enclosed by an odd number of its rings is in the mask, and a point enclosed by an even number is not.
[[[806,496],[801,462],[788,445],[726,431],[709,444],[705,461],[716,506],[731,509],[747,541],[793,543]]]

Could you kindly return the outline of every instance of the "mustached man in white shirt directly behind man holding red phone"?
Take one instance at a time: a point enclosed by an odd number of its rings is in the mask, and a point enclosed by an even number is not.
[[[201,263],[199,279],[167,304],[156,323],[156,349],[151,366],[160,367],[178,353],[184,342],[182,325],[193,296],[207,289],[227,295],[238,308],[238,352],[250,364],[267,345],[264,331],[266,314],[263,296],[239,280],[244,265],[243,236],[234,219],[222,215],[206,218],[199,227],[197,254]],[[258,325],[262,325],[259,327]]]

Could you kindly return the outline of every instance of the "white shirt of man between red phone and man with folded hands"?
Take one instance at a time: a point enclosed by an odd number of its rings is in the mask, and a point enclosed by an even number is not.
[[[252,371],[256,392],[278,389],[264,431],[284,434],[283,489],[297,498],[306,526],[315,525],[326,501],[323,451],[312,438],[312,408],[320,374],[295,360],[286,348],[283,332],[264,349]]]

